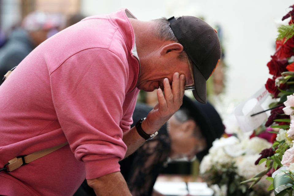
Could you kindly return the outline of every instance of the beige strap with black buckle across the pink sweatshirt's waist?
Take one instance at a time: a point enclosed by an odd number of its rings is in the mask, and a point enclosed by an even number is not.
[[[52,153],[55,150],[58,150],[58,149],[62,148],[66,144],[68,144],[68,142],[63,143],[63,144],[58,145],[58,146],[54,146],[52,148],[37,151],[37,152],[29,154],[27,156],[17,156],[19,158],[14,157],[13,159],[9,160],[8,161],[9,164],[6,165],[7,172],[13,171],[13,170],[21,167],[23,164],[30,163],[30,162],[32,162],[32,161],[34,161],[36,159],[41,158],[42,156],[45,156],[45,155],[47,155],[49,153]]]

